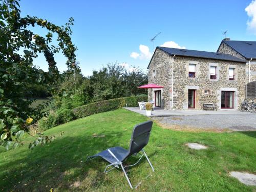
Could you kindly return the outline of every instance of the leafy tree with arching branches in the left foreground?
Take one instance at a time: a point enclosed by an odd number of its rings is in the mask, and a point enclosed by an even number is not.
[[[54,54],[61,51],[67,57],[70,72],[79,70],[75,65],[76,48],[71,41],[70,26],[74,19],[71,17],[65,26],[59,27],[35,16],[20,17],[18,8],[18,1],[0,3],[0,144],[7,149],[20,145],[20,138],[29,132],[28,124],[46,115],[41,112],[42,105],[33,109],[30,107],[33,99],[24,99],[24,96],[30,91],[31,82],[47,88],[54,86],[59,78]],[[43,37],[27,29],[36,25],[47,29],[48,34]],[[56,47],[52,45],[53,33],[57,33]],[[44,54],[49,72],[33,66],[33,58],[39,53]],[[46,141],[47,138],[42,138],[38,142]]]

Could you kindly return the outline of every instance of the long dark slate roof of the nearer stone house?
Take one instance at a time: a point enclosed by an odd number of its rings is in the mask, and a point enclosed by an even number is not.
[[[167,48],[167,47],[157,47],[157,48],[163,50],[164,52],[166,52],[170,55],[176,54],[176,55],[179,55],[179,56],[246,62],[243,59],[240,59],[238,57],[232,56],[230,54],[225,54],[225,53],[196,51],[196,50],[188,50],[188,49],[175,49],[175,48]]]

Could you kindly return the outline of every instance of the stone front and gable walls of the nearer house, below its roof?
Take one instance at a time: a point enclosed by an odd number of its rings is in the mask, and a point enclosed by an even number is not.
[[[172,90],[172,58],[157,49],[148,66],[148,81],[156,83],[161,89],[162,107],[166,110],[188,109],[188,90],[196,90],[195,109],[202,110],[203,103],[216,103],[221,109],[221,91],[234,92],[234,109],[245,98],[245,68],[243,62],[224,61],[187,56],[174,57],[174,90]],[[196,65],[196,77],[188,77],[189,64]],[[217,68],[217,79],[210,79],[210,66]],[[229,80],[228,69],[234,68],[234,80]],[[154,89],[148,91],[148,99],[154,100]],[[172,94],[173,101],[172,101]]]

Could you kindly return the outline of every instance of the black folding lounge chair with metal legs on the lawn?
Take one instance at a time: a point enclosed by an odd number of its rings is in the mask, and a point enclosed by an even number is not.
[[[140,123],[138,125],[135,125],[134,129],[133,129],[133,133],[132,133],[132,138],[131,138],[131,142],[130,142],[130,148],[129,150],[125,150],[124,148],[117,146],[117,147],[112,147],[112,148],[108,148],[105,151],[102,151],[96,155],[93,156],[89,156],[87,158],[87,161],[89,159],[95,158],[95,157],[102,157],[103,159],[105,159],[106,161],[108,161],[110,164],[108,166],[106,166],[104,173],[108,173],[110,170],[116,168],[119,168],[118,165],[121,166],[123,173],[130,185],[131,188],[133,188],[131,181],[129,180],[124,168],[125,167],[130,167],[130,166],[134,166],[136,165],[143,156],[146,157],[147,162],[150,164],[153,172],[154,172],[154,167],[152,166],[150,160],[148,159],[145,151],[143,150],[143,147],[147,145],[148,140],[150,139],[150,133],[152,130],[152,121],[146,121],[143,123]],[[142,152],[143,154],[141,155],[140,159],[133,165],[127,165],[127,166],[123,166],[123,162],[130,157],[133,154]],[[111,169],[107,170],[108,167],[113,166]]]

